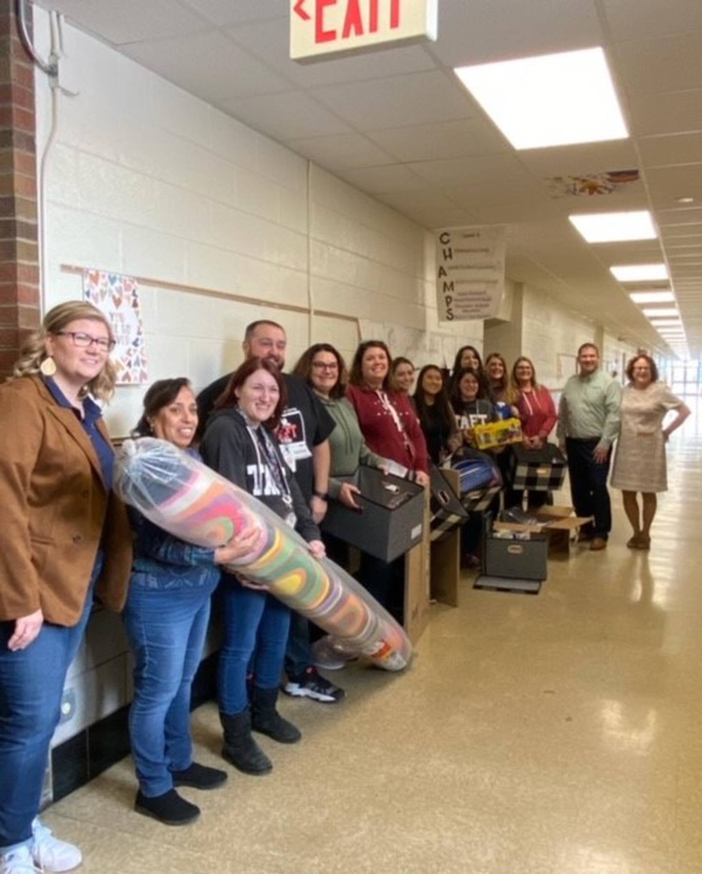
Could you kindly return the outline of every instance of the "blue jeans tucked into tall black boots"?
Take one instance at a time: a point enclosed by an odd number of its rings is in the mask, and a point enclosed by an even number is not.
[[[267,592],[247,589],[230,574],[222,575],[224,645],[219,653],[219,710],[232,716],[248,707],[247,673],[254,684],[277,689],[290,628],[290,608]]]

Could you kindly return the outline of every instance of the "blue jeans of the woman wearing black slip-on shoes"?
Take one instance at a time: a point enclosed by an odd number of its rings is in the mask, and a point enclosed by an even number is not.
[[[132,578],[124,626],[135,659],[129,739],[142,794],[173,788],[192,763],[192,680],[202,657],[212,586],[161,589]]]

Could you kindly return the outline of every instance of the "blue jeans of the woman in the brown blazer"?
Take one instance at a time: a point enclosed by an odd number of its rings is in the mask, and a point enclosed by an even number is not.
[[[66,673],[83,639],[100,565],[70,628],[45,622],[26,649],[10,652],[15,623],[0,622],[0,850],[31,843]]]

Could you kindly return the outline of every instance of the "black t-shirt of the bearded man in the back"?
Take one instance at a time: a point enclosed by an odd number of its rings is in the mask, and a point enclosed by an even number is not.
[[[198,430],[202,433],[215,401],[224,392],[231,373],[216,379],[198,394]],[[288,403],[283,410],[276,432],[281,453],[295,474],[302,495],[309,503],[315,488],[315,468],[312,449],[323,443],[334,430],[335,422],[322,406],[315,392],[302,379],[283,374],[288,391]]]

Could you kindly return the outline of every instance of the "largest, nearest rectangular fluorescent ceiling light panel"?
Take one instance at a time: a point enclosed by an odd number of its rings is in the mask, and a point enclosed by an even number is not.
[[[629,136],[601,48],[455,68],[515,149]]]

